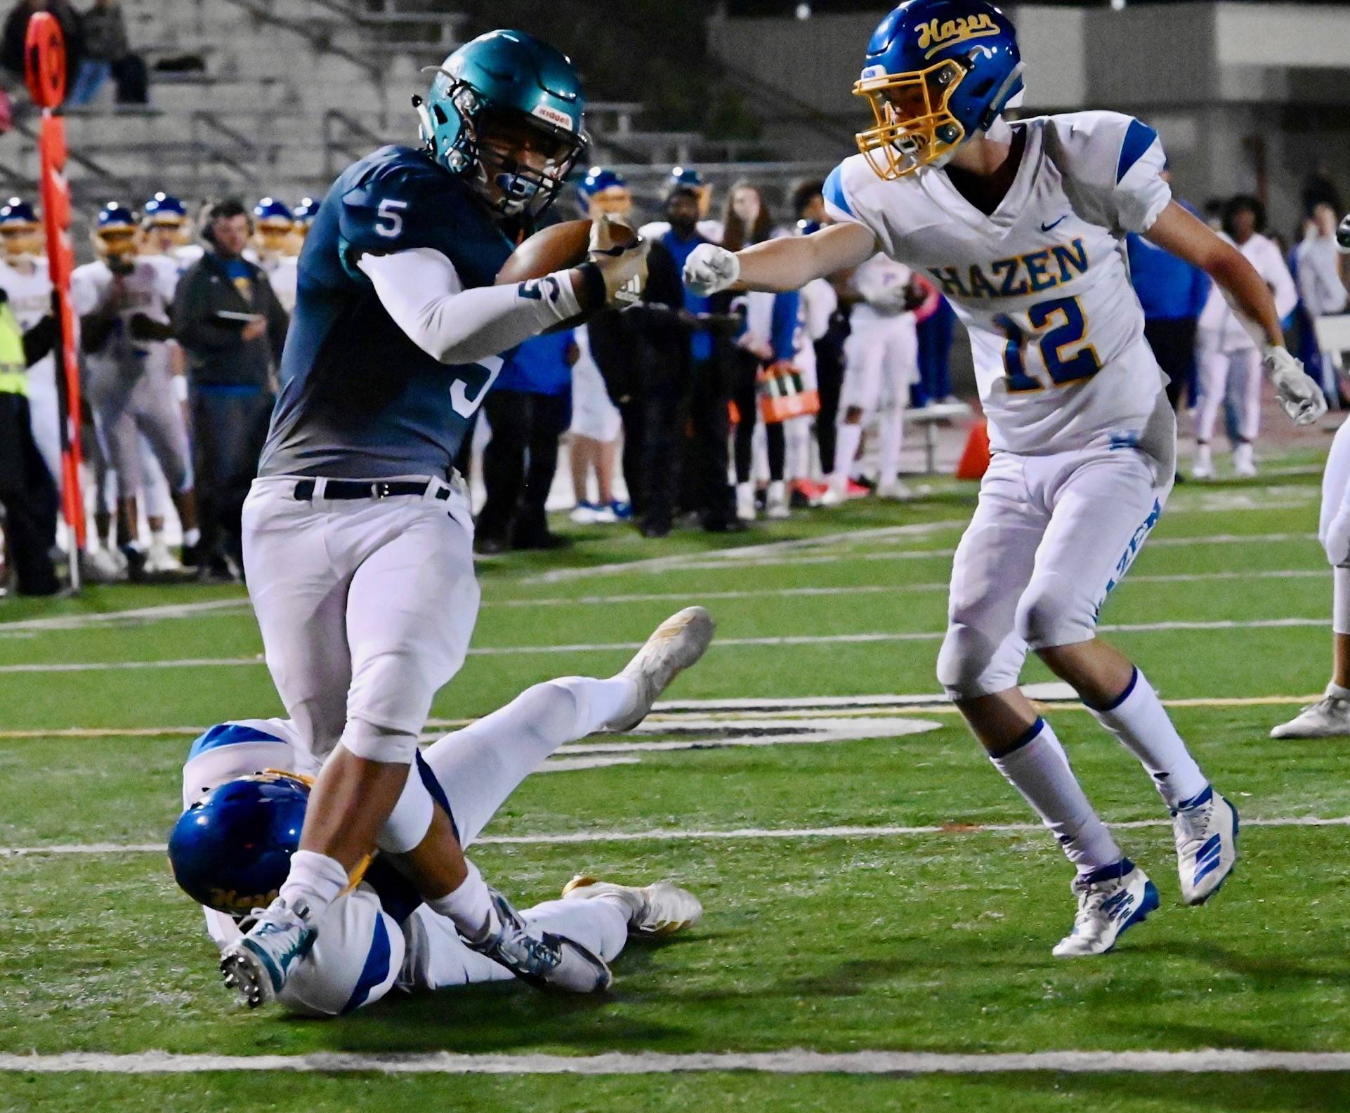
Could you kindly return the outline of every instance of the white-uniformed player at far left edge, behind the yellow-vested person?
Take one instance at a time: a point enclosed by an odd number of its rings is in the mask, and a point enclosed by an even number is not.
[[[51,313],[51,278],[42,254],[42,223],[32,206],[11,197],[0,208],[0,289],[19,328],[27,331]],[[61,487],[61,397],[57,393],[57,356],[45,355],[28,368],[28,420],[32,438],[51,479]]]

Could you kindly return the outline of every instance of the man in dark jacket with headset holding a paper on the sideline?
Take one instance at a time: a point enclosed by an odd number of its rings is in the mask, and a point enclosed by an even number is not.
[[[243,571],[240,515],[267,436],[273,366],[289,324],[267,275],[243,258],[250,233],[243,202],[211,209],[208,250],[180,279],[173,312],[188,353],[201,567],[230,579]]]

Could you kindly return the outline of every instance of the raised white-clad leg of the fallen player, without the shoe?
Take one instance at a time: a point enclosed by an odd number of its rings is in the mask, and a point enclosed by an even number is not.
[[[563,742],[621,722],[636,703],[637,685],[626,676],[566,676],[526,688],[425,750],[423,757],[450,800],[460,845],[478,838],[502,801]]]

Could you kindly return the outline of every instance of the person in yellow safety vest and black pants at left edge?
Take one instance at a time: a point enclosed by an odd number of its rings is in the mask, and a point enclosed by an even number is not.
[[[57,487],[32,440],[28,421],[28,367],[51,351],[55,322],[39,321],[28,332],[0,290],[0,507],[5,514],[9,563],[20,595],[61,591],[51,549],[57,542]]]

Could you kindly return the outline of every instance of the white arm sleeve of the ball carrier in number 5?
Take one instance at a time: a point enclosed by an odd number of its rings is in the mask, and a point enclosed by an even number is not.
[[[454,263],[417,247],[362,255],[379,304],[408,337],[441,363],[474,363],[580,313],[566,275],[466,290]]]

